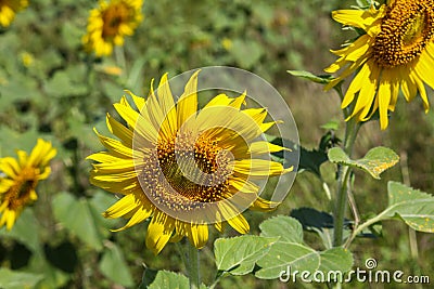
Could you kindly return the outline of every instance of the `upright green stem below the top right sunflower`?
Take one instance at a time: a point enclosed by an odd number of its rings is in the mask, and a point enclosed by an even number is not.
[[[346,122],[344,152],[350,157],[353,155],[354,143],[356,142],[357,133],[360,129],[360,123],[354,118]],[[334,211],[334,229],[333,229],[333,246],[339,247],[344,242],[344,221],[345,211],[348,203],[347,191],[349,188],[349,175],[352,170],[349,167],[340,166],[337,176],[337,194]]]

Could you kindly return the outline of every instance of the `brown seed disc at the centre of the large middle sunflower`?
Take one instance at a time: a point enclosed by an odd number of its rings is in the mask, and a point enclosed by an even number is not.
[[[178,135],[150,154],[140,178],[152,200],[171,210],[191,210],[227,198],[231,158],[217,142]]]

